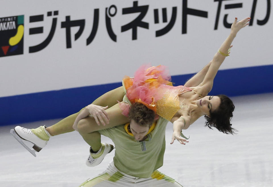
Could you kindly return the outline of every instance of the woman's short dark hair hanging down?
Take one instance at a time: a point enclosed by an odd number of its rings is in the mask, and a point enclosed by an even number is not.
[[[219,108],[211,112],[210,116],[205,116],[206,123],[205,126],[211,129],[211,127],[215,127],[219,131],[226,134],[233,134],[236,129],[231,127],[230,120],[233,117],[232,112],[234,111],[234,104],[230,98],[225,95],[217,95],[220,97],[221,103]]]

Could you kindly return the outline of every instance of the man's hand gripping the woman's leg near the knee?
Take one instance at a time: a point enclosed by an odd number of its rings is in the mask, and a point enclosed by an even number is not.
[[[88,110],[90,115],[95,118],[96,123],[98,125],[100,125],[101,123],[104,126],[105,126],[105,122],[109,124],[109,116],[107,112],[105,111],[107,108],[108,106],[98,106],[95,104],[89,104],[88,106],[86,106],[86,109]]]

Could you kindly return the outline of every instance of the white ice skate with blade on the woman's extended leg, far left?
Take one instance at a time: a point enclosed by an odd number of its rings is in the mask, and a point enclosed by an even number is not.
[[[41,151],[47,144],[47,141],[40,139],[36,136],[31,129],[27,129],[24,127],[16,126],[14,129],[11,129],[11,134],[15,137],[15,139],[22,144],[34,157],[36,157],[35,152]],[[30,149],[22,140],[29,141],[33,143],[33,149]]]

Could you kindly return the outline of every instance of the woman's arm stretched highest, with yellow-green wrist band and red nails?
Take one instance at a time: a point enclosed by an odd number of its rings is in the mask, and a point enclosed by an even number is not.
[[[197,92],[199,92],[201,95],[207,95],[213,85],[214,77],[216,76],[216,73],[220,67],[220,65],[223,63],[226,56],[228,56],[228,50],[231,47],[231,42],[235,38],[237,32],[248,25],[247,22],[249,22],[250,18],[247,17],[239,22],[237,22],[237,18],[235,18],[233,24],[231,25],[231,31],[228,36],[228,38],[224,41],[224,43],[220,46],[219,51],[216,52],[212,59],[212,63],[208,69],[208,72],[206,73],[204,80],[198,88],[196,89]]]

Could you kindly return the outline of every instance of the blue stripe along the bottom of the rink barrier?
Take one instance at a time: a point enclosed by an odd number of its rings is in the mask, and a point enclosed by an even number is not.
[[[273,92],[272,71],[273,65],[220,70],[210,95],[239,96]],[[183,85],[192,76],[175,75],[172,76],[172,82]],[[66,117],[119,86],[121,82],[1,97],[0,126]]]

